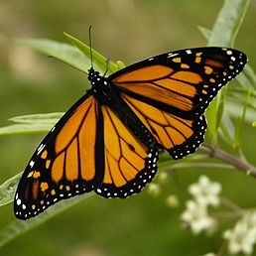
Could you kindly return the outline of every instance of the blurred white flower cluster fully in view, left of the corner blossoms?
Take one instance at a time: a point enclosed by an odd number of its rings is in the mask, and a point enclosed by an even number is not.
[[[216,229],[217,221],[208,215],[207,206],[219,204],[221,186],[211,182],[208,177],[201,176],[196,184],[189,187],[189,192],[193,200],[187,202],[186,210],[182,213],[183,223],[191,228],[193,234],[198,234],[203,230],[212,233]]]

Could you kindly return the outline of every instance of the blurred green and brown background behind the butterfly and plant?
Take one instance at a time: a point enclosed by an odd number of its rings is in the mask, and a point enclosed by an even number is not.
[[[0,125],[17,115],[63,112],[88,85],[83,73],[10,39],[65,41],[62,33],[67,32],[87,43],[92,24],[93,48],[113,61],[132,64],[172,50],[205,46],[197,26],[210,29],[222,4],[222,0],[0,0]],[[252,1],[235,44],[252,66],[256,66],[255,12]],[[243,149],[256,165],[253,136],[255,130],[248,124]],[[24,170],[43,137],[0,137],[1,183]],[[195,256],[216,251],[222,242],[220,232],[194,237],[179,221],[187,188],[202,173],[220,182],[223,195],[242,207],[255,206],[252,178],[234,171],[187,169],[178,173],[177,209],[165,203],[175,192],[172,179],[157,197],[147,190],[125,200],[90,196],[0,248],[0,255]],[[12,207],[0,208],[0,229],[14,220]]]

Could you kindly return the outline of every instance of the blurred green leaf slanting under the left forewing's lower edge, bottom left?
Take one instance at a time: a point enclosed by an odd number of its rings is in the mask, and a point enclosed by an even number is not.
[[[43,224],[47,220],[53,218],[59,213],[63,212],[65,209],[76,204],[77,202],[91,196],[93,193],[85,193],[81,195],[75,195],[75,197],[64,199],[59,201],[57,204],[51,206],[46,211],[42,212],[40,215],[28,219],[28,220],[14,220],[12,223],[4,227],[0,231],[0,247],[10,242],[17,236],[31,230],[32,228]]]

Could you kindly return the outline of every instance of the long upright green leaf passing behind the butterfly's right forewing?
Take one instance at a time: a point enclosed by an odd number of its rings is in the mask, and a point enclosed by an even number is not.
[[[218,13],[217,19],[208,39],[208,46],[232,47],[238,30],[243,21],[244,15],[249,5],[249,0],[226,0]],[[219,97],[211,102],[206,110],[208,121],[207,132],[211,141],[216,142],[218,122],[216,120],[217,109],[219,107]]]

